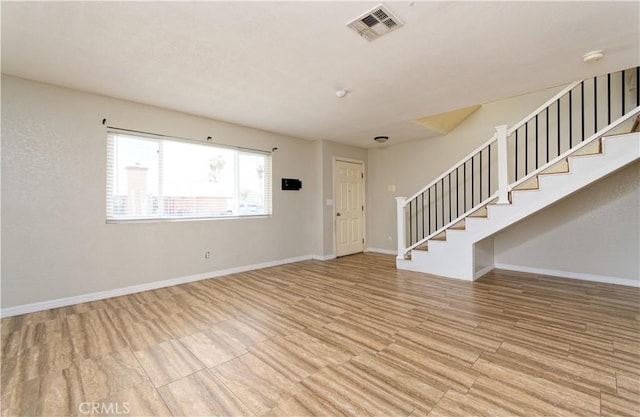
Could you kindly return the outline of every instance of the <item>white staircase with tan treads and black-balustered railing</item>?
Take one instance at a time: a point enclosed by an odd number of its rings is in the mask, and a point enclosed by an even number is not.
[[[574,82],[409,198],[397,197],[399,269],[474,280],[486,240],[640,158],[640,67]]]

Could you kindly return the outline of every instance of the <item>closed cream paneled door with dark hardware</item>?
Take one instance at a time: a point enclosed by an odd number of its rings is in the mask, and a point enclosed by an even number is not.
[[[362,163],[335,162],[336,256],[364,251]]]

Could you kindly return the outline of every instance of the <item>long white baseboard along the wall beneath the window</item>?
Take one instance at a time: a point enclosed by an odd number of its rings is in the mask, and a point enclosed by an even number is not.
[[[55,300],[41,301],[21,306],[7,307],[0,309],[0,317],[18,316],[20,314],[33,313],[35,311],[49,310],[51,308],[66,307],[73,304],[87,303],[91,301],[103,300],[105,298],[119,297],[121,295],[134,294],[142,291],[155,290],[158,288],[171,287],[173,285],[186,284],[188,282],[200,281],[209,278],[219,278],[225,275],[237,274],[240,272],[253,271],[255,269],[269,268],[272,266],[290,264],[294,262],[308,261],[311,255],[298,256],[295,258],[279,259],[276,261],[262,262],[259,264],[243,265],[233,268],[221,269],[218,271],[205,272],[202,274],[188,275],[179,278],[172,278],[163,281],[148,282],[145,284],[132,285],[113,290],[99,291],[90,294],[77,295],[73,297],[58,298]]]

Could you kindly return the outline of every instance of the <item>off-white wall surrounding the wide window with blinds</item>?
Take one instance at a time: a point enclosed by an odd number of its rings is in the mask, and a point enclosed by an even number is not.
[[[103,118],[129,129],[277,147],[273,216],[106,224]],[[320,250],[310,141],[3,76],[2,151],[3,308]],[[302,190],[281,191],[281,177],[301,179]]]

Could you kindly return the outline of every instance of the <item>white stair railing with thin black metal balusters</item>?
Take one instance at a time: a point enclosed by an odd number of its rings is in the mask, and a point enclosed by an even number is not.
[[[640,67],[571,83],[409,198],[397,197],[398,259],[640,113]],[[634,86],[635,83],[635,86]]]

